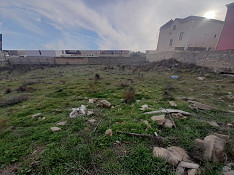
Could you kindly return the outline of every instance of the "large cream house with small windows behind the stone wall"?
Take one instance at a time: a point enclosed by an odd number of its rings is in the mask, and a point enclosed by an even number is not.
[[[160,28],[157,51],[215,50],[223,25],[199,16],[170,20]]]

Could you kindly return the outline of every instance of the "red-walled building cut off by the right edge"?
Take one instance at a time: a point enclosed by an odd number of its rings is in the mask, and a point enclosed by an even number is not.
[[[226,6],[227,14],[216,50],[234,50],[234,3]]]

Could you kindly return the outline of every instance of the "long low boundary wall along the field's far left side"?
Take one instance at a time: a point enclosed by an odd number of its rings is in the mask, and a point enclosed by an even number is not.
[[[109,65],[109,64],[140,64],[146,57],[9,57],[12,65]]]

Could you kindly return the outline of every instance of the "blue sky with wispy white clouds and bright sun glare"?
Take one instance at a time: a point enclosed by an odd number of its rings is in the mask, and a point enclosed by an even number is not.
[[[170,19],[224,20],[233,0],[0,0],[3,49],[129,49],[157,47]],[[2,25],[2,26],[1,26]]]

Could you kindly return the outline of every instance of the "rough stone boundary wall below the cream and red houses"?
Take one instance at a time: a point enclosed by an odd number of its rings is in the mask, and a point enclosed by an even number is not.
[[[176,51],[146,54],[146,60],[149,62],[169,58],[209,67],[215,72],[234,73],[234,51]]]

